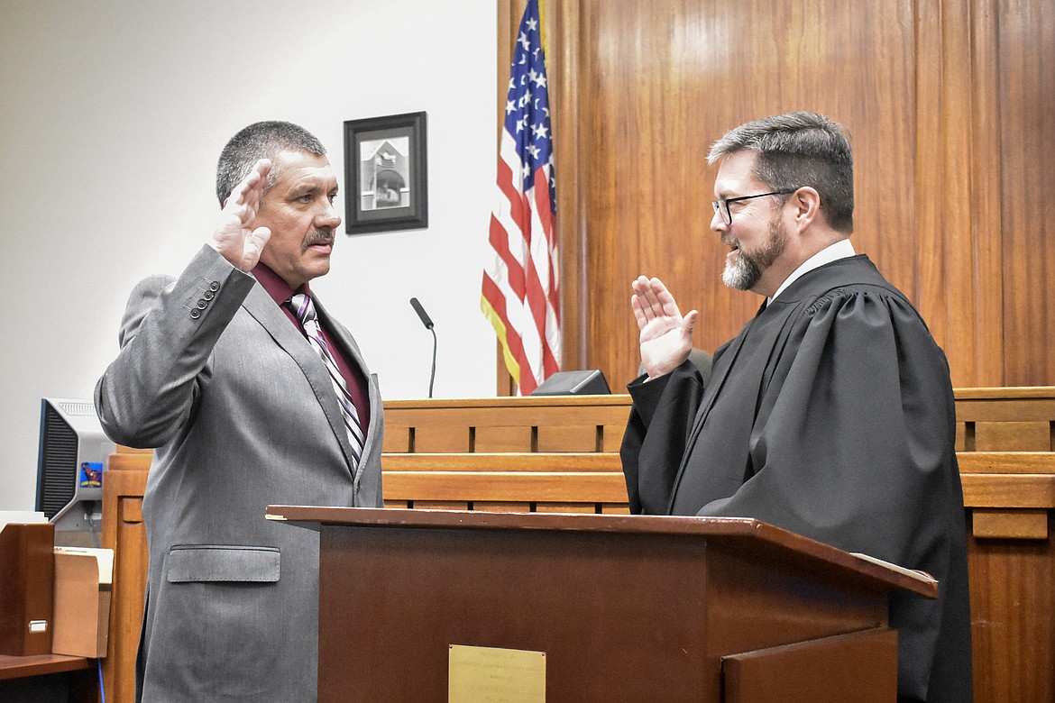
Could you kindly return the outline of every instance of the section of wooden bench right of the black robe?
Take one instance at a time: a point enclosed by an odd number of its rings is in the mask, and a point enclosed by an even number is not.
[[[975,700],[1055,701],[1055,388],[956,393]]]

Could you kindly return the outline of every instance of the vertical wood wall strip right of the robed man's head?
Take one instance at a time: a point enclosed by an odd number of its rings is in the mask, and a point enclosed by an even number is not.
[[[993,26],[974,3],[917,4],[916,222],[897,237],[913,255],[905,289],[944,349],[954,384],[1003,385],[1002,272],[996,193]],[[905,174],[909,176],[909,174]],[[906,178],[907,182],[907,178]]]

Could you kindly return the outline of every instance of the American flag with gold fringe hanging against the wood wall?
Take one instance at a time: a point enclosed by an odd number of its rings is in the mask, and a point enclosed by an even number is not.
[[[491,215],[495,262],[483,272],[480,297],[521,395],[560,370],[553,137],[539,32],[538,0],[528,0],[513,47]]]

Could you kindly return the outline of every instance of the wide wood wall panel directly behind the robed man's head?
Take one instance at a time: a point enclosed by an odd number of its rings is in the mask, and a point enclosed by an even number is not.
[[[578,87],[583,138],[576,161],[558,156],[558,182],[578,171],[573,178],[589,184],[576,222],[589,272],[587,366],[616,388],[636,375],[629,284],[640,273],[701,310],[695,344],[705,349],[754,313],[757,296],[721,281],[726,252],[709,229],[706,154],[727,129],[762,115],[809,109],[846,124],[858,161],[855,242],[913,294],[917,257],[887,235],[915,220],[905,195],[915,168],[912,3],[578,4],[577,63],[556,56],[551,73]]]

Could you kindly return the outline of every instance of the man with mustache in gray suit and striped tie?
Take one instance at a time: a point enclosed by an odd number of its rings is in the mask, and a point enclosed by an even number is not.
[[[341,218],[325,153],[288,122],[231,139],[216,231],[178,278],[136,287],[96,385],[107,434],[155,449],[145,701],[314,700],[318,534],[265,521],[265,508],[382,505],[377,378],[318,300],[333,374],[284,307],[329,271]]]

